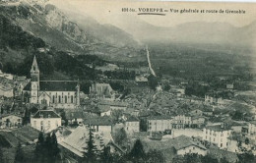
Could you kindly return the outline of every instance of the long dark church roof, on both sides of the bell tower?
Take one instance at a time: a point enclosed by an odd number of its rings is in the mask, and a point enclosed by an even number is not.
[[[76,91],[78,81],[39,81],[40,91]],[[24,90],[31,90],[29,82]]]

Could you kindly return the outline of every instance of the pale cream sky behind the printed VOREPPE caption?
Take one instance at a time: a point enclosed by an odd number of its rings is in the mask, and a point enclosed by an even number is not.
[[[256,20],[256,3],[218,3],[218,2],[153,2],[127,0],[50,0],[60,9],[91,16],[100,24],[118,26],[127,19],[140,19],[158,27],[174,27],[187,22],[221,22],[235,27],[244,27]],[[136,12],[122,12],[122,8],[135,9]],[[244,10],[245,14],[180,14],[166,13],[165,16],[139,16],[139,8],[197,9],[197,10]]]

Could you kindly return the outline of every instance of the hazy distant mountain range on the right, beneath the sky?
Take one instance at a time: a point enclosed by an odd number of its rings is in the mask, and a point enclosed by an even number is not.
[[[256,22],[246,27],[233,27],[219,22],[188,22],[175,27],[157,27],[136,17],[127,17],[125,20],[127,21],[116,23],[115,26],[142,42],[169,41],[251,47],[256,36]]]

